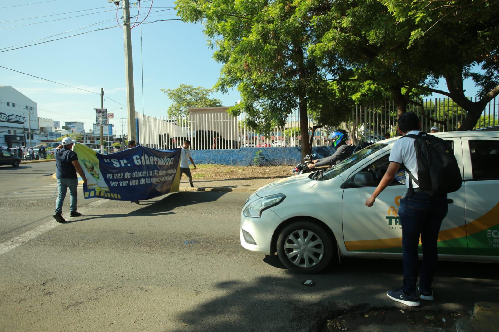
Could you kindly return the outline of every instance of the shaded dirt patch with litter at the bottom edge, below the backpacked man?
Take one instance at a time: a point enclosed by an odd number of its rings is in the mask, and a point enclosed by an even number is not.
[[[456,321],[464,315],[411,308],[359,309],[333,315],[318,331],[455,331]]]

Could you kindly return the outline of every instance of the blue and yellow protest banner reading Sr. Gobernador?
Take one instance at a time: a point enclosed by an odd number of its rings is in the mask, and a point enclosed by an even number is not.
[[[75,144],[73,151],[87,178],[85,199],[145,200],[179,191],[181,149],[137,146],[101,155]]]

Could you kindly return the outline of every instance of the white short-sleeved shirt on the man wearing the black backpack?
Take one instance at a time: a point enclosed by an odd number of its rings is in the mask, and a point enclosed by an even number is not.
[[[419,131],[418,130],[413,130],[408,133],[408,134],[415,134],[418,135]],[[398,139],[392,147],[392,152],[390,153],[390,158],[388,159],[390,162],[395,162],[399,164],[404,164],[404,166],[409,169],[411,174],[418,179],[418,161],[416,159],[416,149],[414,148],[414,141],[416,141],[413,138],[410,137],[405,137],[405,138],[400,138]],[[406,186],[409,188],[409,174],[406,173]],[[411,180],[412,181],[412,180]],[[412,187],[413,188],[419,188],[419,185],[416,184],[416,182],[412,181]]]

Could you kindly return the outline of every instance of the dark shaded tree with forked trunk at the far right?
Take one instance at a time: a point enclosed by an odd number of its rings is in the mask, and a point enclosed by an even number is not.
[[[396,17],[397,23],[410,22],[407,51],[428,55],[426,67],[430,79],[419,88],[452,98],[467,112],[459,130],[473,129],[486,105],[499,95],[498,1],[382,2]],[[439,78],[446,80],[449,91],[435,89]],[[465,95],[463,80],[466,78],[472,78],[480,87],[475,102]]]

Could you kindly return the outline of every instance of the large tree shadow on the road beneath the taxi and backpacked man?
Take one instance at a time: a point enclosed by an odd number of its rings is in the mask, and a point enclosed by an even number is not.
[[[265,257],[267,263],[269,259],[274,257]],[[435,301],[411,309],[385,295],[387,290],[401,286],[401,261],[349,259],[318,275],[284,272],[250,283],[224,280],[213,288],[223,290],[225,295],[200,302],[180,313],[177,320],[192,331],[318,331],[334,313],[341,315],[359,308],[366,312],[403,309],[408,316],[419,311],[467,312],[476,302],[497,302],[498,276],[491,271],[493,267],[486,263],[441,262],[435,277]],[[314,286],[304,286],[307,279]]]

